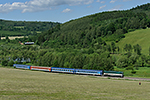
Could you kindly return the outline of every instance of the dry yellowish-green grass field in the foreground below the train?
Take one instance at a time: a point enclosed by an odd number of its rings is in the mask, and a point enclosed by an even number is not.
[[[150,82],[0,68],[1,100],[148,100]]]

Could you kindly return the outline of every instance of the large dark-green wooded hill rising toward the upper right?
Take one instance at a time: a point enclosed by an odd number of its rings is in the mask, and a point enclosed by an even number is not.
[[[106,41],[120,41],[124,34],[150,27],[150,4],[124,11],[107,11],[71,20],[36,40],[47,47],[74,46],[89,48]]]

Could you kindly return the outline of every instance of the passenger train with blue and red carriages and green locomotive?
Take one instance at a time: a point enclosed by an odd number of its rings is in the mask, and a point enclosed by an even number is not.
[[[61,67],[43,67],[43,66],[31,66],[31,65],[22,65],[22,64],[13,64],[13,67],[17,69],[36,70],[36,71],[54,72],[54,73],[110,76],[110,77],[121,77],[121,78],[124,77],[124,73],[119,72],[119,71],[87,70],[87,69],[73,69],[73,68],[61,68]]]

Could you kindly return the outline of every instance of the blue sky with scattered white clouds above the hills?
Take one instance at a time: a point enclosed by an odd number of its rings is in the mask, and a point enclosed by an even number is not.
[[[95,13],[127,10],[147,3],[150,0],[0,0],[0,19],[65,23]]]

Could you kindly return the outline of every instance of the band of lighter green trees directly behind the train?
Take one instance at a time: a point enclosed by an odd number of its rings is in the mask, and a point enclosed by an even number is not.
[[[114,66],[126,69],[150,67],[150,56],[143,55],[142,47],[138,44],[133,46],[126,44],[124,48],[119,48],[112,42],[110,45],[101,45],[99,49],[68,47],[42,49],[39,46],[1,46],[0,48],[0,60],[3,66],[31,63],[37,66],[95,70],[114,70]],[[120,53],[120,50],[124,53]]]

